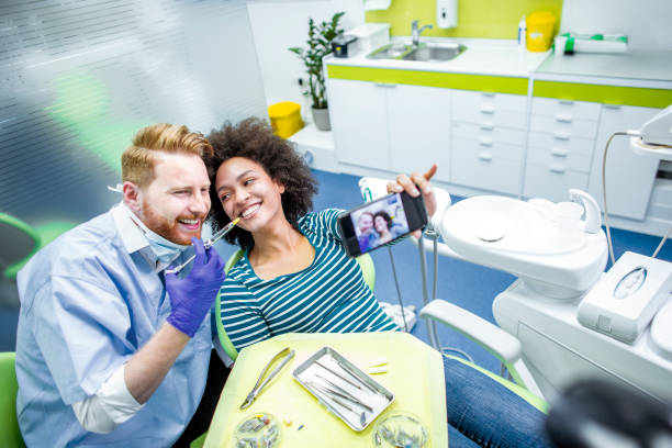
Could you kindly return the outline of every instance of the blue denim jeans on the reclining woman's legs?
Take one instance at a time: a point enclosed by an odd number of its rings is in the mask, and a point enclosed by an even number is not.
[[[446,357],[444,374],[450,448],[552,446],[544,429],[546,414],[504,385]]]

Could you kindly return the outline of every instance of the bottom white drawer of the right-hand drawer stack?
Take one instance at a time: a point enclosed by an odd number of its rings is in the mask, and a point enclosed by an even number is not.
[[[556,170],[548,166],[528,164],[525,169],[523,194],[553,202],[569,201],[569,189],[586,190],[589,175],[570,169]]]

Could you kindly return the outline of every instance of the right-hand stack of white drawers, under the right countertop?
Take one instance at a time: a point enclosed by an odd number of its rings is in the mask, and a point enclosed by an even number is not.
[[[600,104],[533,98],[523,194],[553,202],[586,190]]]

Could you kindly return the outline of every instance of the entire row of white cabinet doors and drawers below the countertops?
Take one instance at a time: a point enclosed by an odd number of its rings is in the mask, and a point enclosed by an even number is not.
[[[464,187],[467,194],[485,190],[558,202],[567,201],[568,190],[575,188],[602,204],[607,138],[639,128],[658,112],[597,102],[612,101],[606,94],[628,101],[620,88],[596,85],[600,94],[592,94],[580,85],[574,92],[571,83],[558,82],[553,91],[549,82],[539,81],[547,85],[540,85],[537,97],[536,90],[528,97],[455,89],[453,81],[464,80],[450,76],[423,78],[445,87],[410,86],[403,83],[410,79],[404,70],[361,68],[368,80],[352,80],[359,69],[341,68],[327,78],[335,154],[344,170],[351,166],[354,172],[363,168],[394,175],[423,171],[436,163],[435,179]],[[374,82],[377,78],[385,83]],[[590,101],[549,98],[558,96]],[[614,138],[606,170],[608,212],[643,220],[658,165],[657,159],[635,155],[628,137]]]

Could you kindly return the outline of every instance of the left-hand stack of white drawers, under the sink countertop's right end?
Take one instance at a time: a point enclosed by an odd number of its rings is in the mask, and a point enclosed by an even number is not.
[[[451,182],[518,194],[526,104],[517,94],[453,90]]]

